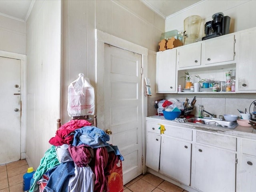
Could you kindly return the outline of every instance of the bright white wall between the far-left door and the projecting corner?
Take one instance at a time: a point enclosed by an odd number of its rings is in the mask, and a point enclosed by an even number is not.
[[[26,159],[36,168],[60,118],[61,2],[36,1],[26,24]]]

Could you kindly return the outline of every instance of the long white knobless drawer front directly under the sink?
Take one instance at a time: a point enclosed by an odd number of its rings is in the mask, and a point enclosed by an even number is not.
[[[236,151],[236,138],[226,135],[196,131],[196,142]]]

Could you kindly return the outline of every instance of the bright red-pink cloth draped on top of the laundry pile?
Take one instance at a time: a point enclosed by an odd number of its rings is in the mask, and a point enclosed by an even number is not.
[[[70,120],[69,122],[63,124],[57,131],[55,137],[50,138],[49,143],[54,146],[61,146],[63,144],[72,144],[74,130],[82,128],[84,126],[92,125],[86,120]],[[71,135],[70,135],[71,134]]]

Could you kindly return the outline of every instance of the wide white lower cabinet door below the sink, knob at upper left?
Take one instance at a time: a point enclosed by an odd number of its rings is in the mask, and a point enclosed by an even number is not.
[[[194,178],[191,185],[205,192],[235,191],[236,154],[198,144],[194,146]]]

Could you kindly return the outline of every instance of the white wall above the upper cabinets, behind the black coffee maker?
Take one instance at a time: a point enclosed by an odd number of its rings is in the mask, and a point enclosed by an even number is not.
[[[199,15],[202,18],[200,36],[204,36],[204,24],[212,20],[212,15],[223,12],[230,16],[230,33],[256,26],[255,0],[203,0],[196,6],[173,14],[166,18],[165,31],[178,30],[184,32],[184,19],[188,16]]]

